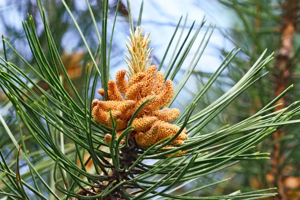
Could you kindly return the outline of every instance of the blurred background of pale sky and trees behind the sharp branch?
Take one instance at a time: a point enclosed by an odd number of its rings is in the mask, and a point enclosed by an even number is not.
[[[94,31],[85,1],[65,0],[65,2],[78,22],[90,49],[94,52],[98,47],[99,40]],[[126,68],[123,61],[123,52],[125,51],[123,40],[128,35],[128,12],[126,0],[121,0],[120,2],[110,57],[112,75],[120,68]],[[132,13],[135,13],[133,15],[134,24],[136,24],[140,1],[131,0],[130,2]],[[99,19],[102,13],[102,2],[101,0],[89,0],[89,3],[100,28],[101,23]],[[86,66],[90,62],[84,43],[60,0],[43,0],[43,6],[45,7],[51,32],[64,66],[73,80],[78,93],[83,95]],[[215,117],[212,122],[206,125],[203,131],[210,132],[215,130],[216,127],[233,124],[247,118],[291,83],[294,83],[294,89],[281,100],[282,107],[300,99],[300,85],[297,82],[300,75],[298,60],[300,53],[299,6],[298,0],[145,1],[141,24],[143,24],[145,30],[151,30],[151,45],[154,47],[152,52],[153,63],[157,65],[162,59],[162,52],[165,51],[177,21],[182,14],[184,19],[185,14],[188,12],[188,17],[185,19],[186,25],[181,23],[178,28],[178,32],[182,31],[183,35],[187,34],[194,19],[196,21],[193,31],[195,31],[204,14],[206,14],[209,22],[217,24],[192,78],[180,93],[182,98],[178,98],[180,100],[174,102],[176,107],[183,109],[186,106],[186,102],[189,102],[195,95],[195,91],[201,88],[207,77],[211,75],[211,72],[219,65],[232,46],[241,48],[241,52],[233,59],[233,62],[230,63],[222,76],[218,78],[218,81],[214,83],[213,89],[201,98],[196,109],[203,109],[210,101],[216,99],[234,85],[266,47],[269,53],[275,52],[275,59],[267,65],[264,71],[261,71],[261,73],[270,71],[269,75],[252,85],[247,92],[242,93],[218,117]],[[117,0],[109,0],[108,34],[110,34],[109,30],[112,28],[116,7]],[[34,65],[33,57],[26,41],[26,35],[21,25],[21,20],[27,20],[27,13],[31,14],[36,20],[35,24],[38,30],[39,41],[42,47],[46,47],[43,25],[35,0],[0,1],[0,30],[3,32],[4,38],[30,64]],[[184,26],[186,26],[185,29]],[[195,43],[200,42],[203,34],[204,30],[200,30]],[[178,35],[175,36],[175,39],[178,39],[176,37]],[[183,63],[183,69],[188,66],[188,60],[192,59],[196,46],[191,48],[190,55]],[[173,44],[170,52],[176,48],[177,46]],[[3,55],[2,46],[0,54]],[[24,63],[14,55],[11,49],[7,49],[7,54],[11,56],[8,57],[9,61],[20,67],[23,66],[23,70],[29,73],[29,71],[26,71]],[[171,56],[173,56],[172,53],[169,53],[163,67],[166,67],[167,60]],[[179,74],[178,79],[180,79]],[[32,74],[32,79],[34,78],[34,74]],[[176,78],[174,81],[176,82]],[[36,82],[39,82],[39,80],[36,79]],[[42,86],[43,83],[40,82],[39,84]],[[100,82],[98,84],[100,87]],[[96,97],[99,98],[99,96]],[[2,92],[0,93],[0,101],[2,102],[1,114],[5,116],[6,123],[15,135],[19,135],[18,127],[15,125],[17,121],[13,108],[7,103],[7,99]],[[278,109],[282,107],[278,106]],[[222,171],[222,173],[216,173],[213,177],[205,177],[214,180],[228,177],[228,174],[232,177],[229,183],[213,187],[214,194],[218,195],[223,190],[234,191],[236,185],[242,186],[243,191],[249,191],[250,188],[276,186],[278,187],[279,195],[274,198],[300,199],[300,174],[298,172],[300,169],[300,150],[298,148],[300,135],[298,130],[299,125],[288,126],[256,146],[257,151],[271,153],[270,160],[240,162],[234,167],[227,168],[226,174]],[[0,131],[4,130],[1,129]],[[27,149],[28,153],[32,152],[30,156],[32,163],[39,166],[38,170],[45,177],[50,177],[51,174],[49,172],[51,168],[49,166],[51,166],[50,162],[53,161],[47,159],[46,155],[38,153],[38,145],[30,139],[25,129],[23,130],[23,135],[25,142],[27,142],[26,146],[29,148]],[[9,137],[4,132],[0,132],[0,138],[0,148],[5,149],[3,152],[11,156],[12,160],[15,159],[15,153],[10,153],[10,151],[14,150],[14,147]],[[66,153],[71,154],[74,148],[73,144],[65,141],[65,147]],[[25,171],[27,168],[23,167],[22,170]],[[205,178],[198,179],[196,184],[201,185],[205,183],[207,181]],[[196,184],[187,184],[181,189],[190,190],[196,187]],[[0,183],[0,187],[3,186]],[[201,190],[201,192],[201,195],[208,195],[212,192],[212,188]]]

